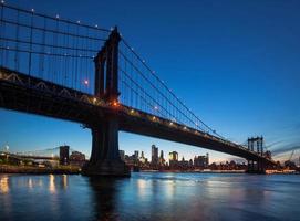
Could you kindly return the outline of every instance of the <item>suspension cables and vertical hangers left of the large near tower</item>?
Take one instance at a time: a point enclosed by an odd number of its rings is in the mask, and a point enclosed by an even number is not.
[[[1,66],[93,94],[93,57],[110,30],[3,2],[0,7]]]

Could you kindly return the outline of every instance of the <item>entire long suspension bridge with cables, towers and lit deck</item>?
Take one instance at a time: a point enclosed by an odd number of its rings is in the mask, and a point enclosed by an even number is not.
[[[0,18],[0,107],[90,128],[86,175],[130,175],[118,155],[120,130],[238,156],[254,172],[275,165],[263,155],[260,139],[235,144],[197,117],[117,28],[3,2]]]

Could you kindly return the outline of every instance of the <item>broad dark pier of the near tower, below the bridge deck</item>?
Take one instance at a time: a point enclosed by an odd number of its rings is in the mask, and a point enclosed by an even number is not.
[[[110,116],[92,130],[92,152],[90,161],[83,167],[86,176],[130,177],[130,169],[121,160],[118,154],[118,123],[115,116]]]

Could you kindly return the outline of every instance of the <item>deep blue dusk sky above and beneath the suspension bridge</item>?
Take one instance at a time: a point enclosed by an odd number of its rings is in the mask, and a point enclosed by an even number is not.
[[[244,143],[263,135],[270,149],[300,145],[300,2],[19,0],[25,9],[110,28],[148,61],[158,76],[219,134]],[[0,147],[12,150],[69,144],[86,154],[91,134],[80,125],[0,109]],[[208,150],[121,133],[131,154],[151,145],[186,158]],[[230,156],[208,151],[214,160]],[[298,154],[297,154],[298,152]],[[300,155],[300,149],[296,156]]]

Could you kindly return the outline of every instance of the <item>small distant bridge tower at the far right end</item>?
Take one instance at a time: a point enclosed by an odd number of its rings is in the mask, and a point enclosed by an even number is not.
[[[263,156],[263,137],[251,137],[248,138],[248,150],[257,151],[258,155]],[[248,171],[249,173],[265,173],[266,165],[262,158],[248,159]]]

